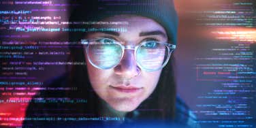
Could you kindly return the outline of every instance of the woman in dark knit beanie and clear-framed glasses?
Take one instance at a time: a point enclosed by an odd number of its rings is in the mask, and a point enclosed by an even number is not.
[[[69,26],[70,42],[80,42],[69,46],[70,58],[86,65],[74,65],[70,73],[48,85],[69,86],[75,91],[43,92],[40,96],[85,99],[86,103],[31,103],[27,117],[35,116],[32,108],[41,108],[37,115],[61,116],[50,126],[136,126],[134,123],[152,121],[193,126],[191,112],[176,98],[171,54],[178,25],[172,1],[83,1],[69,21],[80,22]],[[77,31],[84,28],[86,33]],[[81,117],[100,118],[85,121]],[[116,121],[106,121],[108,118]],[[48,121],[24,124],[49,125]]]

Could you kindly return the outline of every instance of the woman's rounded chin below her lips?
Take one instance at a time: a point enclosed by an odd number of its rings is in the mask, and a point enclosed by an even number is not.
[[[114,99],[109,102],[109,105],[117,111],[131,112],[140,106],[141,101],[129,98]]]

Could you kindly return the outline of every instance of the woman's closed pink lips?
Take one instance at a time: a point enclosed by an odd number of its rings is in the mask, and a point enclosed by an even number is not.
[[[135,87],[135,86],[110,86],[115,91],[121,92],[121,93],[137,93],[142,90],[142,87]]]

